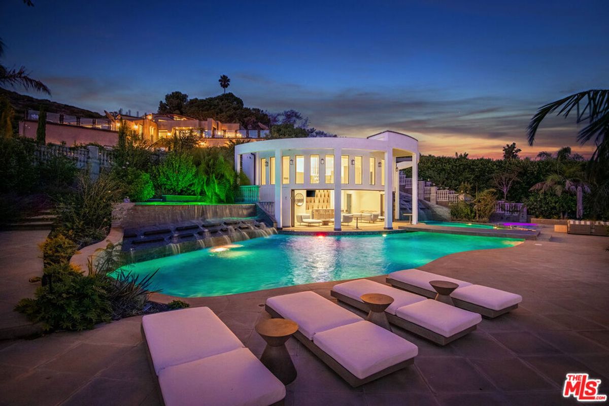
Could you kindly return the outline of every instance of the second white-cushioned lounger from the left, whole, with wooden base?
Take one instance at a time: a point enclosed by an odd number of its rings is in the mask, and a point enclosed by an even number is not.
[[[410,341],[314,292],[268,298],[266,310],[298,323],[294,337],[353,387],[406,367],[418,354]]]

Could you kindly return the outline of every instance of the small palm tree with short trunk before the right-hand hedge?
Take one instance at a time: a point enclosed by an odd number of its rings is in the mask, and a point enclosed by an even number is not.
[[[576,217],[581,219],[583,217],[583,194],[590,193],[590,187],[586,183],[580,164],[574,162],[561,164],[560,160],[557,159],[557,161],[557,172],[547,175],[546,180],[534,184],[530,190],[540,193],[551,191],[557,196],[563,192],[575,193],[577,197]]]

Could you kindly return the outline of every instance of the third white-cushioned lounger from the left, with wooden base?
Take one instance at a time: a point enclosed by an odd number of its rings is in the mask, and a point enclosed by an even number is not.
[[[385,310],[389,323],[439,345],[446,345],[474,331],[477,324],[482,321],[482,317],[478,313],[457,309],[457,307],[369,279],[343,282],[334,285],[330,292],[339,301],[368,311],[367,304],[360,298],[366,293],[382,293],[391,296],[393,303]]]

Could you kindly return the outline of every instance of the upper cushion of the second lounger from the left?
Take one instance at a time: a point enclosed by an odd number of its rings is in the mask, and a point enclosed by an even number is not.
[[[319,332],[363,320],[349,310],[310,291],[273,296],[268,298],[266,303],[280,313],[281,317],[298,323],[298,331],[309,340]]]

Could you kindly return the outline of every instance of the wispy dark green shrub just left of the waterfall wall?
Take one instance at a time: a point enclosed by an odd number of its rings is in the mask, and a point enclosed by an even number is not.
[[[79,247],[98,242],[107,236],[112,218],[112,203],[121,201],[122,184],[108,175],[91,181],[80,175],[74,192],[55,205],[55,233],[72,239]]]

